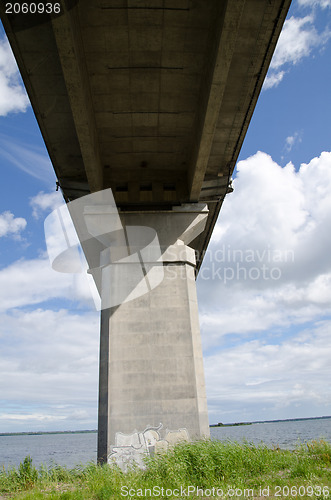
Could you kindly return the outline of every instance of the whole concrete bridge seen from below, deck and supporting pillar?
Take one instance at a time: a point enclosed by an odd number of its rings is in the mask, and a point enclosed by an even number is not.
[[[209,433],[194,275],[289,4],[0,6],[65,201],[111,188],[123,228],[158,235],[162,283],[101,313],[101,462]]]

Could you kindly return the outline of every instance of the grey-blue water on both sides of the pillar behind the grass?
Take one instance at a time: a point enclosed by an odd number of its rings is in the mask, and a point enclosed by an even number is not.
[[[297,444],[324,438],[331,442],[331,418],[252,424],[239,427],[212,427],[212,438],[243,440],[254,444],[292,449]],[[36,466],[59,464],[67,467],[96,462],[97,434],[42,434],[39,436],[0,436],[0,467],[18,466],[30,455]]]

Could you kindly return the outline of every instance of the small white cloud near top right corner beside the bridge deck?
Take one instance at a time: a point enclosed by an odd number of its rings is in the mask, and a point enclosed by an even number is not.
[[[306,3],[308,5],[308,2]],[[279,85],[291,66],[298,64],[303,58],[310,56],[315,48],[323,47],[329,41],[330,30],[326,28],[319,32],[314,22],[313,13],[305,17],[292,16],[285,21],[264,82],[264,89]]]

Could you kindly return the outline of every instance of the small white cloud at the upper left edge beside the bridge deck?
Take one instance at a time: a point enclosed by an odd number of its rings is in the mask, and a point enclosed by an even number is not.
[[[0,39],[0,116],[26,111],[29,99],[6,39]]]

